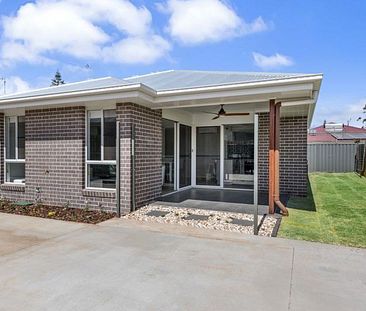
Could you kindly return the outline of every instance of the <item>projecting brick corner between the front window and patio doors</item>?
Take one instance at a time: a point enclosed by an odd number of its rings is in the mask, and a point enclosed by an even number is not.
[[[135,199],[139,208],[161,195],[161,110],[117,104],[121,139],[121,210],[131,209],[131,126],[135,125]]]

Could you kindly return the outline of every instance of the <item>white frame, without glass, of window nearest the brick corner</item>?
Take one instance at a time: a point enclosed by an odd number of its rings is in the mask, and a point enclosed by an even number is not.
[[[90,164],[96,164],[96,165],[115,165],[117,166],[117,160],[104,160],[104,111],[107,110],[114,110],[115,108],[103,108],[103,109],[90,109],[87,110],[85,113],[85,189],[86,190],[96,190],[96,191],[115,191],[115,188],[99,188],[99,187],[89,187],[88,186],[88,165]],[[99,114],[99,117],[101,118],[101,139],[100,139],[100,151],[101,160],[88,160],[89,158],[89,141],[90,141],[90,118],[89,114],[95,113],[95,115]],[[117,121],[116,121],[117,122]],[[117,178],[117,176],[116,176]]]

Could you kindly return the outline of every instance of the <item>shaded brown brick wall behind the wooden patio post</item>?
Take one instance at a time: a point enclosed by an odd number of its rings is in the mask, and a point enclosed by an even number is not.
[[[268,191],[269,114],[259,114],[258,182]],[[307,193],[307,117],[281,117],[280,191],[304,196]]]

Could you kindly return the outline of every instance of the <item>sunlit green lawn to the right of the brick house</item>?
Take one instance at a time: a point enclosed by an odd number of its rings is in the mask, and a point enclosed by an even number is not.
[[[366,178],[311,173],[309,195],[291,198],[279,237],[366,247]]]

